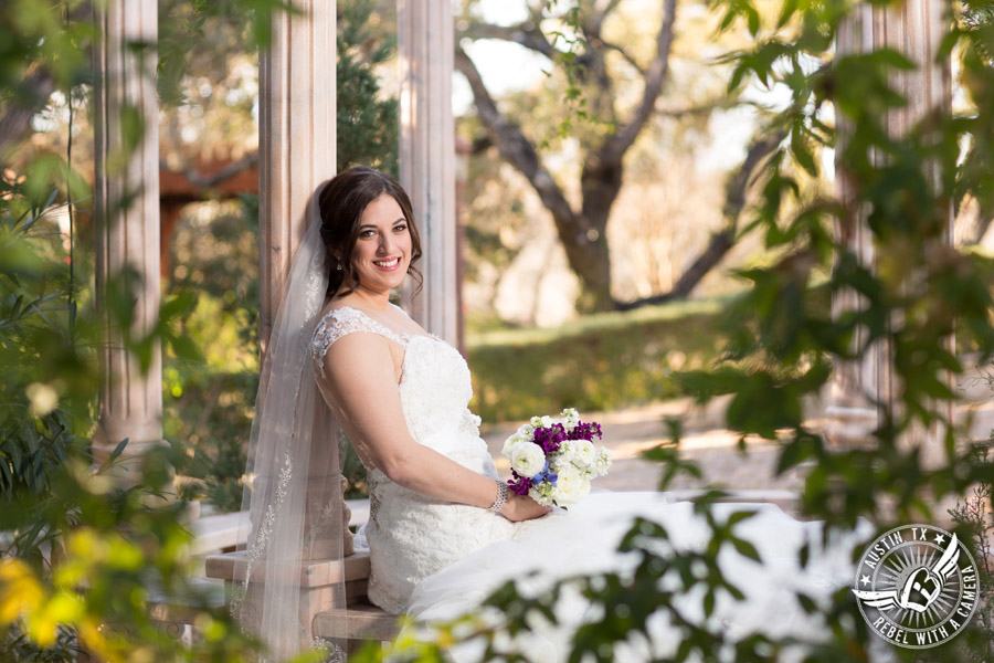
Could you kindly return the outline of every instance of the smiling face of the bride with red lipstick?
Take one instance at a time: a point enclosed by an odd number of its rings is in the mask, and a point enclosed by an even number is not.
[[[352,264],[361,287],[389,292],[403,283],[411,264],[411,230],[390,194],[382,193],[362,211]]]

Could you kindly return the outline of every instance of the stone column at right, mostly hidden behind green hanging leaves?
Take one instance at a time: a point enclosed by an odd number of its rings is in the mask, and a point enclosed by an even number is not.
[[[935,53],[945,34],[943,3],[939,0],[906,0],[898,7],[874,7],[864,4],[839,30],[837,53],[870,52],[889,46],[905,53],[918,63],[914,71],[902,71],[892,80],[893,87],[908,99],[908,105],[896,109],[887,117],[888,129],[895,136],[907,133],[928,113],[940,109],[949,113],[952,105],[949,62],[935,63]],[[837,154],[840,154],[847,131],[852,130],[839,122]],[[874,154],[873,158],[882,158]],[[938,186],[939,172],[933,166],[929,172],[931,180]],[[847,173],[836,170],[836,190],[840,200],[849,201],[854,196],[854,185]],[[846,206],[853,209],[852,206]],[[855,218],[844,219],[836,223],[838,236],[860,257],[864,264],[875,263],[873,234],[866,225],[867,210],[859,210]],[[953,242],[952,203],[947,211],[947,232],[943,241]],[[832,302],[833,313],[861,306],[855,292],[837,293]],[[948,339],[950,349],[953,339]],[[953,376],[948,378],[950,386]],[[828,408],[829,439],[839,444],[858,444],[869,439],[870,431],[878,424],[879,413],[870,399],[898,404],[898,386],[890,362],[890,350],[884,344],[873,347],[860,361],[844,362],[835,367],[832,383],[832,403]],[[939,407],[939,406],[937,406]],[[943,412],[949,421],[953,421],[952,404],[947,403]],[[944,457],[942,434],[938,429],[913,431],[907,442],[924,445],[926,464],[933,465]]]

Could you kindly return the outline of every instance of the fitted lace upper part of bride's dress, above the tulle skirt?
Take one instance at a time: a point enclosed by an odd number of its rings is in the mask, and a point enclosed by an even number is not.
[[[328,348],[357,333],[378,334],[403,347],[398,390],[414,441],[496,478],[497,471],[479,438],[479,418],[468,409],[473,387],[463,356],[437,337],[398,334],[361,311],[342,306],[325,315],[315,328],[310,355],[316,376],[322,375]],[[334,402],[332,394],[324,396]],[[362,441],[355,442],[362,445]],[[411,591],[423,578],[511,536],[511,524],[487,509],[432,499],[393,483],[374,467],[367,470],[369,598],[388,611],[405,611]]]

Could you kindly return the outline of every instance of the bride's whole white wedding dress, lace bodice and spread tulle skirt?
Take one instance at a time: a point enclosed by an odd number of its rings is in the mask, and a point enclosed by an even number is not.
[[[352,333],[379,334],[405,349],[399,385],[408,428],[414,440],[455,462],[497,477],[486,444],[479,438],[479,418],[467,404],[473,394],[469,370],[462,355],[438,338],[401,336],[363,313],[341,307],[327,314],[314,334],[315,370],[338,338]],[[607,432],[610,434],[610,431]],[[558,578],[580,573],[624,572],[636,562],[620,554],[621,538],[635,516],[663,524],[678,548],[704,549],[709,528],[689,503],[670,503],[660,493],[594,492],[569,513],[554,513],[514,524],[487,509],[425,497],[369,470],[370,519],[364,527],[370,549],[370,600],[393,613],[408,612],[422,622],[450,619],[477,607],[508,579],[521,579],[529,591]],[[800,523],[771,505],[721,504],[712,507],[719,520],[751,506],[757,516],[737,526],[737,534],[758,548],[763,564],[726,549],[719,564],[726,576],[747,594],[737,602],[719,594],[712,623],[733,634],[762,632],[812,636],[819,627],[801,609],[794,591],[803,589],[825,599],[852,582],[850,545],[812,546],[813,562],[802,569],[797,550],[819,526]],[[817,538],[817,537],[812,537]],[[537,571],[529,575],[529,571]],[[685,617],[700,613],[700,597],[686,597]],[[535,660],[561,661],[572,628],[598,615],[573,598],[558,613],[567,625],[537,628],[527,643]],[[704,622],[704,614],[695,619]],[[571,624],[571,625],[570,625]],[[653,624],[648,649],[628,657],[673,653],[677,642],[664,619]],[[474,660],[473,651],[456,657]]]

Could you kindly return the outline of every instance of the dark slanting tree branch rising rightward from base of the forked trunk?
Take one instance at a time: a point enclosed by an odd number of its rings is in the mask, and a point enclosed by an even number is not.
[[[698,283],[721,262],[721,259],[736,245],[739,217],[745,207],[745,194],[753,181],[753,173],[760,164],[786,138],[786,131],[780,130],[754,141],[745,154],[739,168],[728,178],[725,185],[725,228],[711,233],[707,248],[687,267],[669,292],[653,295],[635,302],[618,303],[618,311],[630,311],[649,304],[663,304],[673,299],[681,299],[690,294]]]

